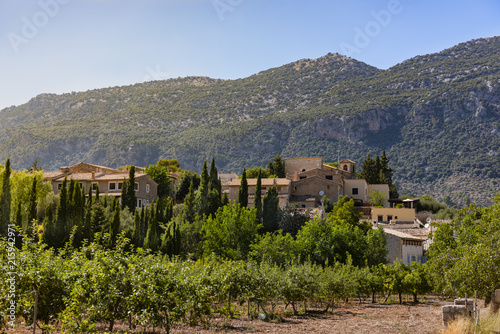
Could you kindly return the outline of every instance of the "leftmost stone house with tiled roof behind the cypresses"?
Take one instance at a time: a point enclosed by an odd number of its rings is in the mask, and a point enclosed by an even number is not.
[[[59,171],[44,172],[44,178],[51,183],[55,194],[61,191],[62,183],[66,178],[68,181],[77,180],[85,189],[85,193],[88,193],[90,188],[95,193],[99,188],[101,195],[120,198],[123,182],[128,180],[129,172],[81,162],[73,166],[61,167]],[[149,175],[136,171],[135,196],[138,208],[156,201],[157,191],[158,184]]]

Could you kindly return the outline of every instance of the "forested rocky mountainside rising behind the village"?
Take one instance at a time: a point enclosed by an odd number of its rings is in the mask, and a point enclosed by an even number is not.
[[[400,194],[491,204],[500,191],[500,37],[379,70],[338,54],[239,80],[188,77],[62,95],[0,111],[0,161],[47,170],[177,158],[223,172],[283,157],[385,149]]]

